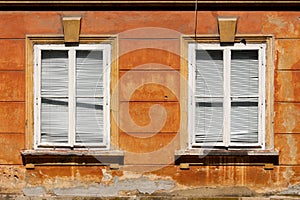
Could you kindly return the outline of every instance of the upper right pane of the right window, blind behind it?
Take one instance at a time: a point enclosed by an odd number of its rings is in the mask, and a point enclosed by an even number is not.
[[[231,51],[231,96],[258,95],[258,51]]]

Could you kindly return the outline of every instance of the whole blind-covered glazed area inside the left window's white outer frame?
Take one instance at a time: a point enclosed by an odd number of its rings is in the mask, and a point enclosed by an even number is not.
[[[42,144],[82,146],[104,142],[103,51],[73,52],[75,54],[70,54],[70,50],[41,51]],[[72,71],[74,78],[70,78]],[[72,101],[74,107],[70,104]],[[75,127],[70,129],[72,124]]]

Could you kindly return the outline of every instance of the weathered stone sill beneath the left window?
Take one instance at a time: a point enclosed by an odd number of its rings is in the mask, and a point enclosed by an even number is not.
[[[21,156],[24,165],[124,164],[123,151],[24,150]]]

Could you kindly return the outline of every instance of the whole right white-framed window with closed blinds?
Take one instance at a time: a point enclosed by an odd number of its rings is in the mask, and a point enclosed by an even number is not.
[[[265,148],[265,49],[188,45],[189,148]]]

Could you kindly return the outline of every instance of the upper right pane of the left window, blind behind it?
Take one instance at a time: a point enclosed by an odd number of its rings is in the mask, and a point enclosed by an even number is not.
[[[103,95],[102,51],[76,51],[77,96]]]

